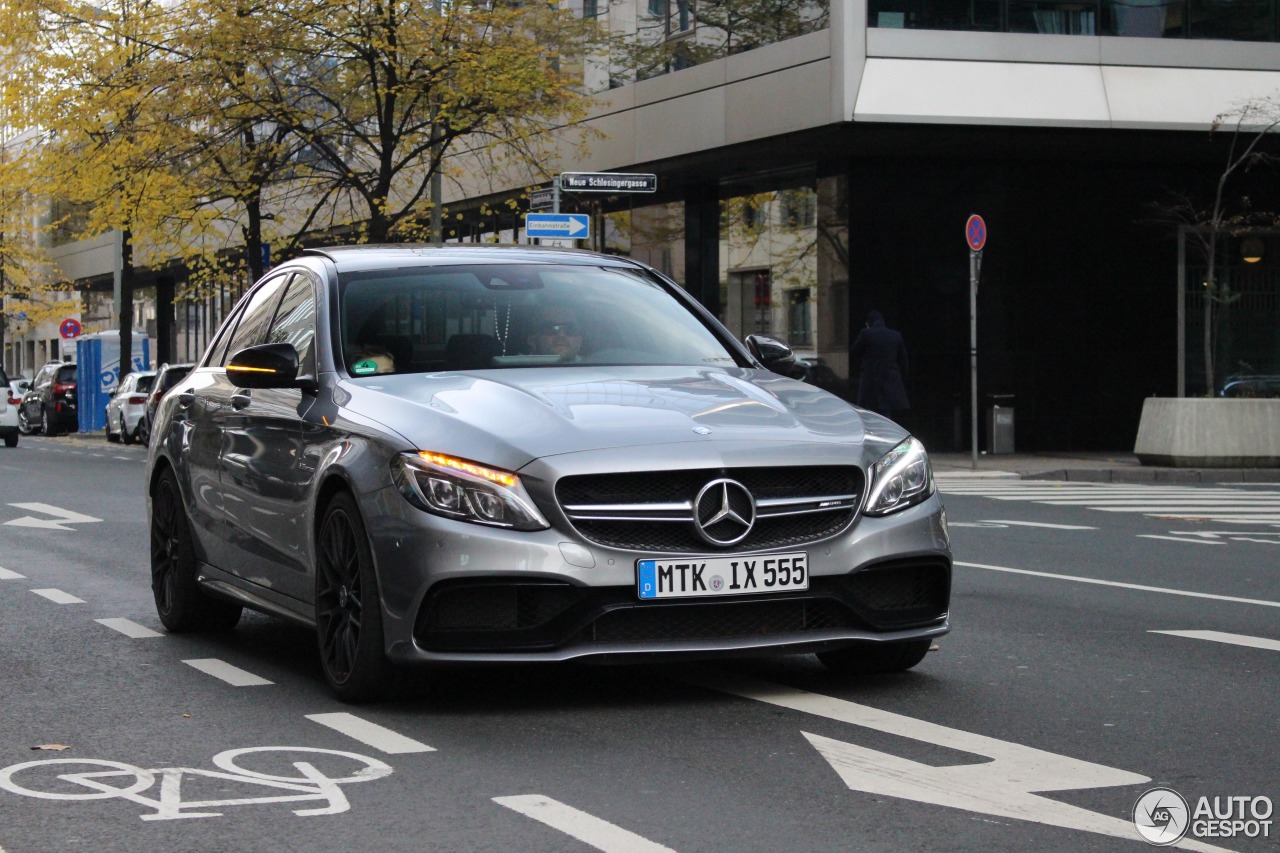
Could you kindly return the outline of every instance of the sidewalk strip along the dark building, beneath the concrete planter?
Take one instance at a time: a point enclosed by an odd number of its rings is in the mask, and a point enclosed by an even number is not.
[[[1089,483],[1280,483],[1274,467],[1155,467],[1124,451],[1043,453],[929,453],[933,473],[950,476],[1007,476]]]

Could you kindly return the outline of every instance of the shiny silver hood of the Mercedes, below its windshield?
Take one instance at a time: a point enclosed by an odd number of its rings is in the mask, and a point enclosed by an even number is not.
[[[579,451],[677,442],[891,447],[901,428],[764,370],[526,368],[346,380],[340,400],[407,439],[509,469]],[[868,435],[868,429],[874,435]]]

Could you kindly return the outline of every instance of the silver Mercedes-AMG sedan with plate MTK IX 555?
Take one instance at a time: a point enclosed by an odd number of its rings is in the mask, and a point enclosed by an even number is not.
[[[353,702],[415,663],[910,669],[948,629],[928,456],[792,368],[627,259],[310,250],[160,403],[160,620],[312,626]]]

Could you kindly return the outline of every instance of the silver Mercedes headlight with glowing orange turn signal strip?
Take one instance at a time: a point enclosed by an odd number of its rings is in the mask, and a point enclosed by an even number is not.
[[[421,451],[396,457],[392,475],[410,503],[447,519],[515,530],[550,526],[511,471]]]

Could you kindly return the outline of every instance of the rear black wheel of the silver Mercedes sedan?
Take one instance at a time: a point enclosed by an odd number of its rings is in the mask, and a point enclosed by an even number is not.
[[[166,469],[151,496],[151,593],[156,613],[174,633],[230,630],[241,606],[206,596],[196,584],[196,549],[178,478]]]

